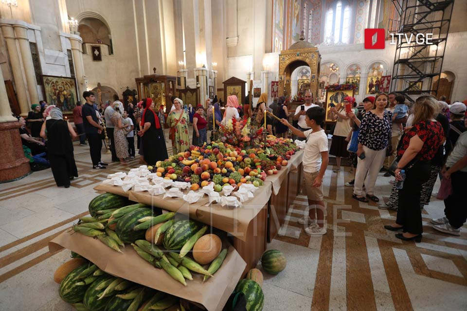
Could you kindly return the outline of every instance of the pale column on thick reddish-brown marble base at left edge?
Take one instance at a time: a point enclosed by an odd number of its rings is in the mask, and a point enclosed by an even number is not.
[[[3,81],[1,69],[0,81]],[[0,83],[0,182],[16,180],[31,171],[19,137],[20,126],[18,120],[11,115],[5,84]]]

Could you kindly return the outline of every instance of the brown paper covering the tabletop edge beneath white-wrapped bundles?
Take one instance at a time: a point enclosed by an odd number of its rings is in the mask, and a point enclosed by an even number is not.
[[[111,193],[115,193],[113,191],[117,189],[121,190],[121,187],[107,184],[100,184],[94,188],[94,190]],[[246,241],[248,226],[259,211],[262,208],[266,208],[272,193],[271,189],[271,183],[269,181],[264,182],[264,185],[254,192],[253,198],[244,202],[242,207],[234,209],[222,207],[220,204],[206,206],[205,204],[208,203],[207,196],[194,204],[188,204],[181,198],[162,199],[163,194],[151,195],[147,191],[135,192],[130,190],[127,193],[129,195],[128,198],[132,201],[188,215],[193,220],[212,225],[242,241]],[[184,192],[187,191],[185,190]]]

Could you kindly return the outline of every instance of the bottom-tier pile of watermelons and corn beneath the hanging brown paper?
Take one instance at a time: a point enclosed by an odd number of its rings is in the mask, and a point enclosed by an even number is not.
[[[111,276],[95,264],[75,257],[55,271],[58,294],[78,311],[204,310],[187,300]]]

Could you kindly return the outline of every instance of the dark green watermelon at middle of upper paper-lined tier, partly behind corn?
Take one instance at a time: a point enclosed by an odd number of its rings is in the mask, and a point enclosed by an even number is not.
[[[159,212],[160,209],[155,209],[155,211]],[[159,215],[157,214],[157,215]],[[154,214],[154,216],[157,216]],[[139,219],[146,217],[146,216],[153,216],[153,211],[151,208],[141,207],[137,208],[124,216],[122,216],[117,222],[117,228],[115,232],[117,236],[125,243],[133,243],[136,240],[144,240],[146,235],[146,230],[133,230],[136,225],[141,223],[138,222]]]

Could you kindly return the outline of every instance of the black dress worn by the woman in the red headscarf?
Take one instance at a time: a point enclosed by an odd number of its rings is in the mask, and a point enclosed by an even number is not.
[[[157,161],[163,161],[169,157],[165,146],[164,132],[162,128],[156,128],[156,120],[152,110],[146,110],[144,122],[151,123],[151,127],[142,137],[144,161],[146,161],[147,165],[154,165]]]

